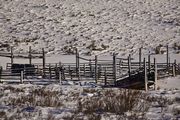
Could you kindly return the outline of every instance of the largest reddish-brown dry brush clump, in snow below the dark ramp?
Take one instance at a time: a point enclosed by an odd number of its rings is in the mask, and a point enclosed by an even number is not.
[[[100,96],[80,99],[78,101],[77,110],[78,113],[82,112],[85,115],[94,114],[98,116],[102,113],[123,115],[127,111],[134,110],[135,107],[139,105],[142,95],[143,93],[137,90],[103,90]]]

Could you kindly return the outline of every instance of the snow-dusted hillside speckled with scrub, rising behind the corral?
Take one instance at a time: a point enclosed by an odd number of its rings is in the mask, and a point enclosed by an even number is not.
[[[0,51],[120,55],[180,49],[179,0],[0,0]]]

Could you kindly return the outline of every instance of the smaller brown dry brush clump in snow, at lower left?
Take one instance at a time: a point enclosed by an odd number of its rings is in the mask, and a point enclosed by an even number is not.
[[[62,91],[50,91],[44,88],[34,89],[28,95],[17,96],[6,101],[6,104],[13,106],[42,106],[42,107],[60,107],[63,103],[60,101]]]

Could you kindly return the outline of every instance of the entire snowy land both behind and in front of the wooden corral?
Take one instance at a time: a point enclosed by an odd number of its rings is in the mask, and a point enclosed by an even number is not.
[[[0,52],[32,46],[45,48],[47,63],[75,63],[63,54],[78,48],[86,58],[112,60],[116,52],[138,61],[143,47],[142,58],[166,62],[167,44],[170,62],[180,63],[180,0],[0,0]],[[0,66],[7,62],[0,57]],[[180,120],[180,76],[157,86],[145,92],[92,81],[0,83],[0,120]]]

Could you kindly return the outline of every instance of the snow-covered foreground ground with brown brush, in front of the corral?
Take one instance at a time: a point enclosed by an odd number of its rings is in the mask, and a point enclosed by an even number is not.
[[[159,90],[139,91],[140,94],[125,89],[101,88],[85,81],[64,81],[62,85],[4,83],[0,84],[0,119],[178,120],[179,80],[180,76],[164,79],[158,82]],[[136,97],[137,100],[133,99]],[[121,113],[124,100],[131,99],[133,108]],[[111,107],[104,108],[103,105]]]

